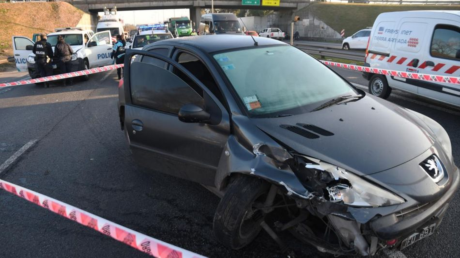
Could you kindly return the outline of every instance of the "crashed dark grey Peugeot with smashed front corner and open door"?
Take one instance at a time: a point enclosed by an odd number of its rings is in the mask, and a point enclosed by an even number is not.
[[[232,35],[127,51],[121,129],[137,163],[221,197],[213,230],[374,255],[432,235],[459,185],[446,131],[283,42]]]

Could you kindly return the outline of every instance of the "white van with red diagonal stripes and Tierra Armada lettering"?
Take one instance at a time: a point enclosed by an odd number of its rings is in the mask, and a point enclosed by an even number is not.
[[[398,11],[374,22],[365,65],[460,77],[460,11]],[[460,107],[460,85],[364,73],[369,92],[387,98],[398,89]]]

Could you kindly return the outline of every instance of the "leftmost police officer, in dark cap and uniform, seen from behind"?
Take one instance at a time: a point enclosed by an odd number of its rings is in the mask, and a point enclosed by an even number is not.
[[[53,58],[53,49],[51,44],[46,42],[46,34],[40,35],[40,41],[35,42],[34,49],[32,52],[35,54],[35,68],[40,74],[40,77],[50,76],[52,71],[48,63]],[[45,82],[45,88],[48,88],[50,84]]]

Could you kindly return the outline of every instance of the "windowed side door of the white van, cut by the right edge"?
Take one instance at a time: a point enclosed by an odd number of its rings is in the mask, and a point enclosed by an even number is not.
[[[420,60],[420,73],[460,77],[460,22],[432,20],[432,36],[427,38],[429,51]],[[459,84],[425,82],[419,85],[418,93],[460,106]]]

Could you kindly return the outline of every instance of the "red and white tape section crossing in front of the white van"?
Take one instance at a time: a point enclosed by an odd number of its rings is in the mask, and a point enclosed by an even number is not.
[[[455,77],[455,76],[444,76],[444,75],[434,75],[434,74],[425,74],[425,73],[410,73],[410,72],[387,70],[387,69],[380,69],[380,68],[373,68],[373,67],[365,67],[365,66],[359,66],[359,65],[344,64],[344,63],[338,63],[338,62],[323,61],[323,60],[321,62],[323,62],[326,65],[337,66],[337,67],[342,67],[345,69],[366,72],[366,73],[378,73],[378,74],[396,76],[396,77],[407,78],[407,79],[417,79],[417,80],[422,80],[422,81],[460,84],[460,77]]]

